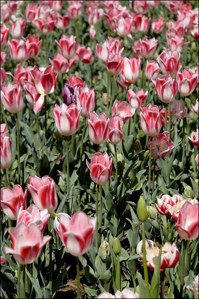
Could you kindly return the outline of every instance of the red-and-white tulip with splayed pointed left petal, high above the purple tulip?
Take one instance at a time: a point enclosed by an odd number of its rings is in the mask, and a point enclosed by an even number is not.
[[[76,51],[76,40],[76,36],[71,35],[70,37],[68,37],[65,34],[62,34],[59,42],[55,40],[61,50],[62,55],[66,59],[71,59],[74,57]]]

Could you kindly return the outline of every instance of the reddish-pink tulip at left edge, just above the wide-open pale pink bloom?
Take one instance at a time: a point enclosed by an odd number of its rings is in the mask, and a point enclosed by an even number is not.
[[[27,190],[23,193],[20,185],[14,185],[12,190],[3,187],[0,189],[0,208],[9,219],[16,220],[19,209],[26,208],[26,197]]]

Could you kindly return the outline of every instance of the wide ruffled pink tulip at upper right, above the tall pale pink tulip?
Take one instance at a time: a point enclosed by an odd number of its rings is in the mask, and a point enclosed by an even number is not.
[[[154,55],[158,46],[158,41],[153,37],[152,39],[148,39],[145,36],[142,40],[137,40],[134,42],[133,51],[135,55],[143,58],[150,58]]]

